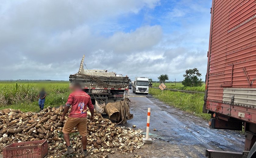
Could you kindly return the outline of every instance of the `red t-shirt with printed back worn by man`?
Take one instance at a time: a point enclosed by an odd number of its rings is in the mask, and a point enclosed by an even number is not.
[[[90,95],[82,90],[72,92],[69,95],[66,105],[72,105],[69,117],[73,118],[87,117],[87,106],[90,111],[94,110]]]

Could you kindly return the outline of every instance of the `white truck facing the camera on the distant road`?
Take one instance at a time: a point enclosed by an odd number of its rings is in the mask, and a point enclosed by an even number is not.
[[[148,95],[148,77],[135,77],[133,83],[133,93],[144,93]]]

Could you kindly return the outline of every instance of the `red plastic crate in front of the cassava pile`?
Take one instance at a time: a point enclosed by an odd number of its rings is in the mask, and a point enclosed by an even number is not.
[[[3,158],[43,158],[47,153],[47,140],[12,143],[3,148]]]

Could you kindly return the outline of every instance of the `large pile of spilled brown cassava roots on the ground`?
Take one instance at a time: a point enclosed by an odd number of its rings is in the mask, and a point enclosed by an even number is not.
[[[88,109],[87,109],[88,111]],[[62,128],[66,121],[60,121],[63,106],[59,108],[45,108],[39,113],[20,110],[0,110],[0,153],[2,149],[11,144],[34,140],[48,140],[48,154],[46,157],[60,157],[66,152],[66,144],[62,135]],[[90,111],[87,112],[89,118]],[[67,114],[68,115],[68,114]],[[67,115],[65,120],[67,120]],[[76,128],[70,134],[72,147],[75,149],[74,157],[83,158],[82,141]],[[101,114],[94,113],[94,121],[87,120],[87,150],[89,154],[107,154],[115,152],[133,153],[143,145],[140,130],[129,127],[117,127]]]

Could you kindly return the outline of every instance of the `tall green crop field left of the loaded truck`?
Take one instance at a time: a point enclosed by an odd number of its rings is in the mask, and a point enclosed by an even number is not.
[[[38,112],[37,95],[44,87],[47,92],[44,106],[66,103],[69,95],[68,82],[0,83],[0,109],[13,108],[23,112]]]

